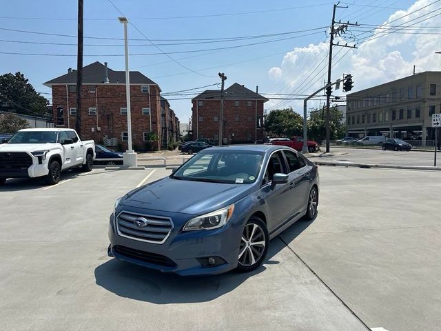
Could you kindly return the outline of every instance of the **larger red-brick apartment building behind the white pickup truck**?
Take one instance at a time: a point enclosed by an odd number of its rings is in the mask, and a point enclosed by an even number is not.
[[[61,128],[75,128],[76,70],[47,81],[52,88],[54,123]],[[145,150],[152,134],[157,134],[156,148],[161,148],[163,122],[161,88],[141,72],[130,72],[130,109],[134,150]],[[127,108],[125,72],[107,68],[107,63],[91,63],[83,68],[81,90],[81,138],[127,149]],[[169,118],[169,117],[167,117]],[[177,119],[174,119],[177,121]],[[175,127],[172,135],[176,136]]]

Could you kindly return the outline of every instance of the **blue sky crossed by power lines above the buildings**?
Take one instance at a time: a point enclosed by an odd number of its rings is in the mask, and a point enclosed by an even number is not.
[[[332,11],[332,2],[326,0],[112,1],[149,39],[214,39],[310,30],[329,26]],[[360,21],[361,19],[362,23],[379,25],[384,21],[390,21],[391,17],[393,19],[397,15],[398,17],[403,15],[411,6],[423,6],[425,3],[431,2],[433,1],[347,0],[349,8],[339,8],[336,16],[345,21],[348,19]],[[342,6],[345,6],[345,4],[341,3]],[[3,6],[2,8],[0,28],[76,35],[76,6],[76,1],[10,1],[8,7]],[[302,6],[306,7],[300,8]],[[440,3],[438,3],[436,6],[428,9],[435,10],[440,8],[440,6]],[[404,11],[400,11],[400,9]],[[254,13],[240,14],[243,12]],[[218,14],[225,15],[212,16]],[[85,0],[84,36],[122,38],[123,26],[116,19],[119,16],[121,16],[119,12],[107,0]],[[177,18],[188,16],[198,17]],[[11,17],[14,18],[12,19]],[[430,20],[424,23],[431,26],[437,25]],[[163,92],[187,90],[218,83],[217,73],[225,72],[228,77],[226,86],[238,82],[252,90],[259,86],[260,92],[276,93],[280,91],[279,93],[288,94],[305,81],[307,72],[311,72],[321,57],[326,55],[326,44],[320,44],[320,41],[326,41],[325,30],[326,28],[322,28],[264,39],[159,46],[164,52],[184,52],[170,54],[170,56],[187,68],[198,72],[198,74],[182,68],[164,54],[132,55],[130,57],[130,68],[132,70],[139,70],[150,79],[156,81],[161,86]],[[382,39],[376,39],[376,41],[369,41],[369,45],[364,46],[364,50],[362,48],[351,50],[340,60],[340,63],[336,66],[336,74],[334,75],[333,73],[333,76],[338,77],[342,72],[353,70],[356,88],[364,88],[371,83],[381,83],[386,79],[394,79],[397,75],[403,75],[405,72],[411,74],[410,69],[407,70],[408,68],[406,67],[408,64],[411,66],[412,61],[416,61],[416,59],[419,61],[416,65],[420,70],[430,70],[431,68],[427,68],[427,63],[433,63],[433,61],[431,59],[423,59],[422,56],[415,54],[415,52],[418,52],[418,49],[416,49],[418,35],[413,34],[405,40],[400,39],[402,36],[402,34],[393,34],[384,37],[384,39],[388,39],[386,48],[383,47],[384,43],[380,42]],[[296,38],[228,50],[187,52],[189,50],[238,46],[287,37]],[[158,52],[154,46],[149,45],[148,41],[143,40],[144,37],[134,30],[132,26],[129,26],[129,38],[140,39],[130,42],[132,43],[132,46],[130,46],[131,54]],[[396,38],[399,39],[398,42],[394,42]],[[430,36],[430,38],[433,39],[434,37]],[[0,30],[0,39],[2,40],[0,41],[0,52],[76,54],[76,46],[8,42],[30,41],[75,44],[76,38],[74,37],[57,37]],[[159,44],[171,43],[172,41],[154,42]],[[188,41],[180,42],[185,43]],[[110,56],[110,54],[123,54],[123,41],[85,38],[84,43],[115,45],[85,46],[85,55],[96,55],[84,57],[85,64],[94,61],[101,61],[102,63],[107,61],[109,67],[113,70],[124,69],[123,57]],[[408,47],[409,43],[412,47]],[[134,44],[141,44],[143,46],[134,46]],[[440,44],[438,42],[438,45]],[[378,52],[373,51],[377,48],[380,48]],[[429,52],[432,52],[432,50],[429,50]],[[192,58],[185,59],[187,57]],[[363,57],[365,57],[366,61],[360,60],[364,59]],[[396,57],[400,58],[399,60],[402,62],[398,61],[397,63],[400,63],[405,70],[398,70],[398,73],[397,70],[394,70],[393,74],[391,74],[391,72],[388,72],[388,66],[384,65],[384,63],[382,69],[378,70],[378,66],[380,66],[382,61],[388,63],[389,58],[393,60]],[[359,68],[358,65],[360,63],[365,63],[365,71],[376,72],[376,76],[360,74],[358,77],[356,70]],[[438,63],[441,63],[441,59],[438,60]],[[0,74],[17,71],[23,72],[39,92],[50,92],[49,88],[45,88],[41,84],[64,74],[69,67],[76,68],[75,56],[54,57],[51,55],[0,54]],[[371,67],[376,70],[369,70]],[[438,70],[440,69],[439,67],[437,68]],[[320,77],[319,74],[318,79]],[[311,83],[311,86],[305,84],[304,92],[314,92],[317,86],[320,86],[320,82]],[[50,97],[48,94],[45,94],[45,96]],[[167,99],[170,99],[170,104],[178,114],[181,123],[185,123],[191,115],[191,102],[189,100],[173,100],[177,98],[180,97],[167,97]],[[278,103],[279,101],[270,101],[267,103],[267,108],[271,109],[271,107],[276,106]],[[296,101],[285,102],[283,106],[294,106],[296,110],[301,110],[301,108],[298,108]]]

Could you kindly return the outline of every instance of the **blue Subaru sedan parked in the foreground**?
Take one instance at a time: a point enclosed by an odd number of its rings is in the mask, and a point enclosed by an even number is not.
[[[314,219],[318,169],[285,146],[207,148],[117,199],[110,257],[181,275],[249,271],[270,239]]]

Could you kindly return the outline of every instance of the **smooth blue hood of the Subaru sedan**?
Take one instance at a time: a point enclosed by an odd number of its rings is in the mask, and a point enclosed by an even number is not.
[[[166,212],[205,214],[245,197],[250,184],[207,183],[166,177],[126,194],[122,205]]]

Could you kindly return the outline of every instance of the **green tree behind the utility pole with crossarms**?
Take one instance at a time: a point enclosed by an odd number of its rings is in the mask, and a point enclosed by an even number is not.
[[[331,121],[329,123],[330,139],[338,139],[344,137],[346,133],[346,124],[342,123],[343,113],[337,107],[329,109]],[[308,138],[315,141],[323,141],[326,139],[326,108],[313,110],[307,121]]]

